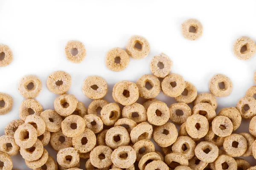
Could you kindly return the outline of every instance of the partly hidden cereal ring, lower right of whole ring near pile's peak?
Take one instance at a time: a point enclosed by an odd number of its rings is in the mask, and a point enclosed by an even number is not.
[[[185,82],[185,89],[180,96],[175,97],[177,102],[191,103],[197,97],[197,90],[191,82]]]

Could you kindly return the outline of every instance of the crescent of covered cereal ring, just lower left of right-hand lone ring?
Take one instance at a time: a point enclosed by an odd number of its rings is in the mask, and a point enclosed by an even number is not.
[[[217,100],[211,93],[198,94],[194,101],[194,105],[197,105],[198,103],[209,103],[215,110],[218,107]]]

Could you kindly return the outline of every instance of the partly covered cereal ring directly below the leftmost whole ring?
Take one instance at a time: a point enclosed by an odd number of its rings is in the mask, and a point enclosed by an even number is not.
[[[41,104],[35,99],[26,99],[24,100],[19,108],[20,119],[25,121],[26,117],[35,114],[40,116],[40,113],[43,111]]]

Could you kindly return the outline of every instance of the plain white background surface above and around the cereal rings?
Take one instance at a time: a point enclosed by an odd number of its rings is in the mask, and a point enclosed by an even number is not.
[[[68,93],[88,107],[91,99],[81,91],[86,77],[105,78],[109,87],[105,99],[113,102],[113,85],[124,79],[136,82],[143,74],[151,74],[149,62],[161,52],[172,59],[172,73],[192,82],[199,93],[209,91],[208,82],[214,74],[230,77],[233,91],[228,97],[217,98],[217,111],[235,106],[254,85],[256,56],[241,61],[233,55],[232,46],[240,36],[256,40],[255,17],[255,0],[0,0],[0,43],[9,45],[14,54],[13,62],[0,68],[0,91],[14,99],[12,111],[0,116],[0,135],[8,122],[19,118],[18,108],[24,98],[17,83],[24,75],[40,77],[43,90],[36,99],[44,109],[53,109],[57,95],[48,91],[46,79],[53,71],[67,71],[72,76]],[[204,26],[199,40],[189,41],[181,34],[181,23],[189,18],[198,19]],[[121,72],[108,70],[106,52],[113,47],[125,48],[134,34],[148,39],[148,57],[131,58]],[[87,55],[80,64],[66,59],[64,47],[68,40],[84,43]],[[167,105],[175,102],[162,92],[157,98]],[[248,132],[249,121],[243,122],[236,133]],[[50,154],[55,156],[56,152]],[[256,165],[252,157],[246,159]],[[27,169],[20,156],[13,157],[13,161],[14,168]]]

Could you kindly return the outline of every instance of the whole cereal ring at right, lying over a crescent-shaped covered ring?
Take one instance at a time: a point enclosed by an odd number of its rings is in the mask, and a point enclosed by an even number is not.
[[[216,116],[212,120],[212,131],[217,136],[230,136],[230,134],[233,132],[233,124],[226,116]]]

